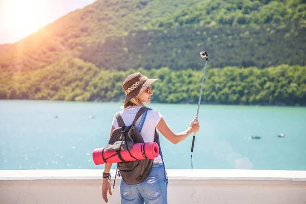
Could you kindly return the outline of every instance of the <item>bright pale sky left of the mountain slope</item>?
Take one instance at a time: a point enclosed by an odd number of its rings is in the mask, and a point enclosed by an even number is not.
[[[15,43],[96,0],[0,0],[0,44]]]

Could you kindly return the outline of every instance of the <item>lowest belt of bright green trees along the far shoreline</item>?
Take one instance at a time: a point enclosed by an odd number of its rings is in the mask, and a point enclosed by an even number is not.
[[[100,70],[69,58],[43,69],[3,74],[0,99],[122,101],[122,82],[135,71],[160,79],[153,85],[155,102],[198,102],[202,70]],[[207,69],[201,99],[214,104],[306,106],[306,66]]]

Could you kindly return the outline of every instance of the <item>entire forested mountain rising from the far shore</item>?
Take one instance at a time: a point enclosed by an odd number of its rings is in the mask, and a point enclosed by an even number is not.
[[[0,98],[122,100],[133,71],[154,100],[306,105],[305,0],[98,0],[0,45]]]

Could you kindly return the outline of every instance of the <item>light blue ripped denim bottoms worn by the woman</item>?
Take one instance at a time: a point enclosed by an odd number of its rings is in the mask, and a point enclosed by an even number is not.
[[[121,204],[167,204],[168,177],[164,163],[153,164],[145,181],[129,185],[121,180]]]

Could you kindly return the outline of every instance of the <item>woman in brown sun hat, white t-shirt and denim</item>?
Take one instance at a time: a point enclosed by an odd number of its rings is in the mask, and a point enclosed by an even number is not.
[[[141,107],[144,107],[144,104],[150,103],[153,94],[151,84],[157,80],[158,79],[147,79],[139,72],[131,74],[125,79],[122,86],[126,97],[124,100],[123,110],[120,112],[125,125],[131,125],[138,110]],[[136,126],[139,124],[139,120],[140,118],[136,121]],[[111,135],[113,130],[117,127],[118,122],[114,116]],[[200,129],[199,122],[195,117],[190,122],[186,131],[182,133],[174,133],[157,110],[148,110],[141,130],[141,136],[143,137],[144,142],[154,141],[156,127],[158,131],[173,144],[185,140],[189,135],[197,133]],[[109,191],[109,194],[112,195],[111,184],[109,182],[111,166],[111,163],[106,163],[103,172],[102,196],[105,202],[108,202],[107,192]],[[167,187],[168,178],[162,156],[159,155],[154,159],[153,167],[148,178],[142,183],[128,185],[121,180],[121,203],[167,203]]]

